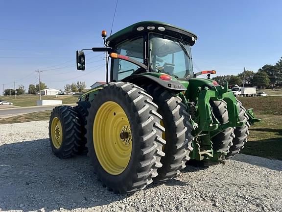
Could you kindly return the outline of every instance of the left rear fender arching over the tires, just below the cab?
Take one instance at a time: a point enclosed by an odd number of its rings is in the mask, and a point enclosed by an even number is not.
[[[141,86],[143,84],[157,83],[168,90],[174,91],[175,93],[180,93],[181,91],[187,90],[186,87],[183,84],[181,84],[178,80],[173,80],[173,79],[163,80],[151,75],[142,75],[142,74],[130,75],[127,78],[124,78],[122,81],[131,82],[138,86]]]

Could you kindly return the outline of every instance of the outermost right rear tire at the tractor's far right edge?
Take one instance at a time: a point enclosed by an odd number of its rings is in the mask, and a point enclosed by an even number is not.
[[[241,151],[241,149],[244,148],[244,144],[247,142],[247,136],[249,135],[250,124],[248,122],[249,117],[247,115],[247,111],[239,100],[237,100],[237,106],[239,108],[240,121],[244,121],[246,124],[242,127],[235,127],[235,138],[233,139],[233,145],[230,147],[226,159],[233,158]]]

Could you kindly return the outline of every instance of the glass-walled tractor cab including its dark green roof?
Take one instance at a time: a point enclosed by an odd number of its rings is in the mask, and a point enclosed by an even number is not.
[[[140,22],[113,34],[106,44],[113,52],[144,64],[140,67],[127,60],[112,60],[111,81],[134,74],[157,72],[177,79],[193,76],[190,47],[196,35],[162,22]]]

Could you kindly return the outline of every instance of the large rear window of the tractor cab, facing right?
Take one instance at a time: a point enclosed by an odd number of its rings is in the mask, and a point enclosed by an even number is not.
[[[184,79],[192,76],[192,57],[188,43],[169,36],[150,33],[150,69]]]

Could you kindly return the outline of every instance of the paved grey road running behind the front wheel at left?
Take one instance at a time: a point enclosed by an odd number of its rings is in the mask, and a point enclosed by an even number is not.
[[[75,106],[76,104],[70,104],[69,106]],[[22,115],[32,112],[40,112],[44,110],[52,110],[55,106],[30,106],[30,107],[16,107],[16,108],[4,108],[0,109],[0,119],[8,118],[15,115]]]

